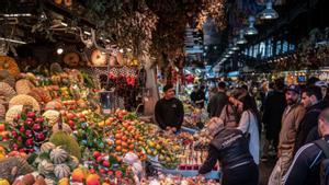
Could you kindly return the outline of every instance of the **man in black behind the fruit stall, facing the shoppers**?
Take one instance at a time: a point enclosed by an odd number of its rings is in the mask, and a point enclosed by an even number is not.
[[[178,131],[181,129],[184,119],[183,103],[174,97],[172,84],[163,86],[163,97],[155,107],[155,117],[161,129]]]

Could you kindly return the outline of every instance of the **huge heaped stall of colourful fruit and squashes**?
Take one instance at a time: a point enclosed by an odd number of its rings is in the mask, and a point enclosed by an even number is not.
[[[101,90],[82,70],[21,72],[13,58],[0,62],[2,184],[216,184],[218,166],[197,176],[206,158],[198,134],[167,132],[125,109],[103,114]]]

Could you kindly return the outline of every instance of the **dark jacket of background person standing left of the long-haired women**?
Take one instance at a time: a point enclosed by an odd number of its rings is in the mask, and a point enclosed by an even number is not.
[[[219,117],[223,107],[228,103],[228,97],[225,92],[217,92],[209,101],[207,112],[209,117]]]

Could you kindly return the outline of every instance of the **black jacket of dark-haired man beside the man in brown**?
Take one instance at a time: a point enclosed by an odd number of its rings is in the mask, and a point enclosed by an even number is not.
[[[295,147],[296,151],[306,143],[306,139],[309,131],[318,125],[318,117],[321,111],[328,106],[329,106],[328,102],[320,101],[317,104],[306,109],[305,116],[302,119],[302,123],[297,131],[296,147]]]

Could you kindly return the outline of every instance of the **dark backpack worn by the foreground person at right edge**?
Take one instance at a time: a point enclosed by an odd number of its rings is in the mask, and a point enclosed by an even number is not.
[[[324,139],[316,140],[315,144],[318,146],[325,154],[325,159],[320,162],[320,185],[329,185],[329,144]]]

